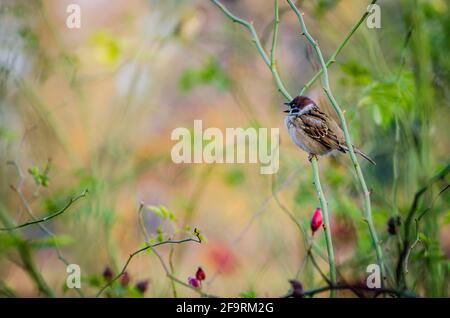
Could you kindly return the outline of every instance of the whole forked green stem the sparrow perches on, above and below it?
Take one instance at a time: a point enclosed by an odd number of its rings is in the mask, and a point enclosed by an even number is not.
[[[275,82],[275,85],[278,88],[278,91],[280,94],[282,94],[288,101],[292,100],[292,96],[289,94],[289,92],[286,90],[280,75],[277,70],[277,64],[275,59],[275,49],[276,49],[276,43],[278,39],[278,29],[280,24],[280,16],[279,16],[279,4],[278,0],[274,0],[274,11],[275,11],[275,17],[274,17],[274,26],[273,26],[273,34],[272,34],[272,46],[270,50],[270,58],[268,57],[267,53],[264,51],[263,46],[261,45],[261,42],[259,40],[258,34],[256,33],[256,30],[252,23],[243,20],[237,16],[235,16],[233,13],[231,13],[220,1],[218,0],[211,0],[219,9],[233,22],[238,23],[242,26],[244,26],[246,29],[248,29],[252,35],[252,41],[255,44],[258,52],[260,53],[264,63],[270,68],[270,71],[272,72],[272,76]],[[328,210],[327,210],[327,201],[325,199],[325,196],[322,191],[322,186],[320,184],[320,178],[319,178],[319,167],[317,158],[313,159],[311,161],[312,169],[313,169],[313,175],[314,175],[314,185],[316,186],[317,195],[319,196],[319,201],[321,205],[322,211],[325,211],[326,213],[326,223],[329,222],[328,217]],[[335,261],[334,261],[334,253],[333,253],[333,245],[331,241],[331,233],[329,226],[325,227],[325,236],[326,236],[326,243],[327,243],[327,252],[328,252],[328,260],[329,260],[329,266],[330,266],[330,281],[332,284],[336,284],[336,268],[335,268]],[[331,291],[331,295],[335,295],[335,290]]]

